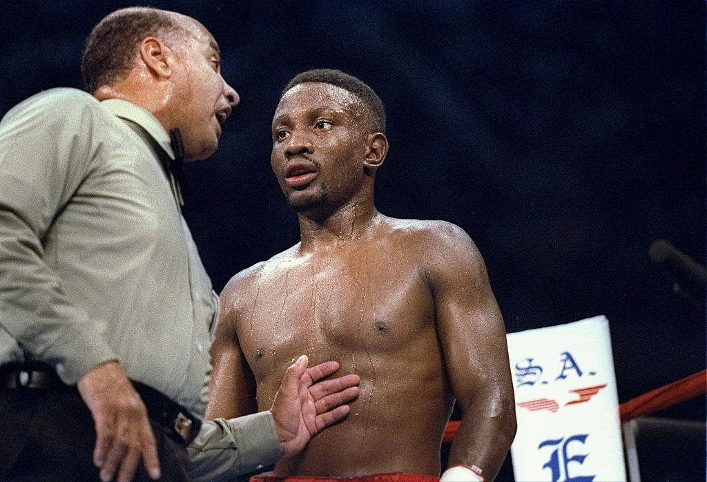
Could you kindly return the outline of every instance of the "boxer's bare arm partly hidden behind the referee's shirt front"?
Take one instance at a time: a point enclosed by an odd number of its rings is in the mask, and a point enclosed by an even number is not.
[[[239,297],[247,291],[249,280],[245,272],[237,274],[221,292],[221,312],[211,345],[214,371],[209,384],[209,406],[206,407],[206,418],[209,419],[235,418],[257,412],[255,377],[240,349],[236,332]]]

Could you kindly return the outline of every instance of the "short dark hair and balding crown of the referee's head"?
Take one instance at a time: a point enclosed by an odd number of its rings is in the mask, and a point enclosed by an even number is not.
[[[121,8],[100,20],[86,39],[81,57],[81,76],[86,90],[94,93],[101,86],[121,81],[135,65],[140,42],[156,37],[173,48],[199,30],[201,23],[181,13],[157,8]]]

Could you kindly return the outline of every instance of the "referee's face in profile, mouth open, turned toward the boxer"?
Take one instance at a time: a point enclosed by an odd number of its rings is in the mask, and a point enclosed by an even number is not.
[[[182,134],[185,160],[213,154],[221,127],[240,98],[221,76],[221,52],[216,40],[196,20],[186,18],[191,34],[179,49],[175,76],[175,126]]]

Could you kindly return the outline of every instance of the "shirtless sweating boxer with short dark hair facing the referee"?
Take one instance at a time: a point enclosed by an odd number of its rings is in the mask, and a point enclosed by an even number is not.
[[[515,411],[506,332],[479,250],[456,225],[376,210],[388,144],[382,104],[366,84],[323,69],[283,92],[271,166],[301,242],[221,293],[207,417],[269,408],[300,353],[338,360],[341,373],[361,376],[358,400],[275,475],[438,476],[456,398],[463,416],[449,465],[491,480]]]

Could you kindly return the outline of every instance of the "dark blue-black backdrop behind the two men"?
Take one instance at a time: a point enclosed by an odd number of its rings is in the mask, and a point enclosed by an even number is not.
[[[648,258],[666,238],[705,264],[703,1],[156,1],[201,20],[242,102],[185,213],[221,290],[298,241],[269,170],[282,86],[332,67],[377,91],[390,153],[377,206],[462,226],[507,330],[606,315],[619,401],[705,367],[705,316]],[[83,39],[127,2],[5,2],[0,114],[81,86]],[[705,399],[659,413],[704,420]]]

